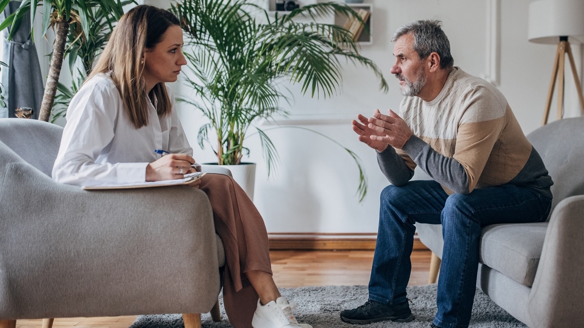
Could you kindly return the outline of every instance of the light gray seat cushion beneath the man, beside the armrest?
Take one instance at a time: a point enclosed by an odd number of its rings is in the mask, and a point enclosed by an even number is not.
[[[547,226],[548,222],[486,226],[481,232],[479,261],[531,287]]]

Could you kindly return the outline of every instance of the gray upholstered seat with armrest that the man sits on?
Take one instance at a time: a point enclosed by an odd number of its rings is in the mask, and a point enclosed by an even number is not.
[[[527,138],[554,180],[550,218],[482,229],[477,287],[531,328],[584,327],[584,117]],[[418,224],[416,231],[442,257],[442,226]]]

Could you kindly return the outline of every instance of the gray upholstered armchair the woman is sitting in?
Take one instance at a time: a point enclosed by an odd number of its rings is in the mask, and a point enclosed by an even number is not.
[[[0,328],[16,319],[183,313],[217,303],[225,258],[203,191],[85,191],[51,177],[62,128],[0,119]],[[50,327],[52,320],[46,320]]]

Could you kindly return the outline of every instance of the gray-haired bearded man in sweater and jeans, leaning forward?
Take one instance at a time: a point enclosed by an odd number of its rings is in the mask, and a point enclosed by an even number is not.
[[[381,193],[369,300],[343,310],[349,323],[413,319],[406,298],[415,222],[442,224],[438,311],[431,327],[467,327],[481,228],[545,221],[552,184],[502,93],[454,67],[439,21],[400,27],[391,73],[405,96],[401,117],[359,115],[353,130],[377,151],[392,185]],[[433,180],[409,181],[419,166]]]

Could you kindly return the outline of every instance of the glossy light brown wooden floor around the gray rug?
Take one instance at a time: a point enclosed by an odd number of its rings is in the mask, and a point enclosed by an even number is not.
[[[272,250],[272,270],[278,287],[366,285],[373,250]],[[428,282],[430,251],[414,250],[409,285]],[[135,316],[55,319],[53,327],[127,328]],[[18,320],[16,327],[39,328],[41,320]]]

